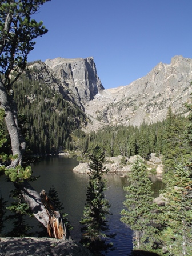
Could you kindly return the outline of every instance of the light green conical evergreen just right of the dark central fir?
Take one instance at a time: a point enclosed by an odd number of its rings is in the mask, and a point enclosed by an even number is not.
[[[129,178],[131,184],[124,188],[127,194],[123,202],[127,210],[121,211],[121,221],[134,231],[134,250],[153,251],[158,242],[158,230],[154,227],[158,206],[152,202],[151,181],[147,177],[146,165],[139,156],[131,167]]]

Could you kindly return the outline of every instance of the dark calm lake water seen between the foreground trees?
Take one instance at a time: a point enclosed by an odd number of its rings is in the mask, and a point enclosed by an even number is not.
[[[65,158],[63,156],[46,157],[42,161],[35,163],[32,166],[33,174],[40,178],[31,183],[31,185],[40,193],[42,189],[46,192],[54,185],[58,192],[58,197],[65,207],[68,214],[68,219],[74,227],[70,231],[71,237],[75,241],[81,238],[81,225],[79,221],[82,218],[83,208],[86,202],[87,185],[89,176],[86,174],[79,174],[72,171],[78,165],[76,159]],[[119,219],[121,215],[119,212],[123,209],[122,202],[125,200],[125,191],[123,186],[129,185],[127,177],[121,174],[107,174],[106,198],[109,199],[111,208],[108,217],[110,233],[116,233],[115,239],[111,239],[114,247],[117,250],[110,251],[107,255],[128,255],[132,249],[132,231],[127,228]],[[151,189],[154,191],[154,197],[158,196],[159,189],[162,189],[162,182],[155,176],[152,177],[154,182]],[[0,189],[2,197],[7,199],[9,190],[13,188],[11,183],[5,182],[5,177],[0,177]],[[38,222],[33,221],[34,225]]]

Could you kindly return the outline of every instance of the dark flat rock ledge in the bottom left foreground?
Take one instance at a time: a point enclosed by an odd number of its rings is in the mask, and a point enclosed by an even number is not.
[[[1,256],[93,256],[79,243],[55,238],[1,237]]]

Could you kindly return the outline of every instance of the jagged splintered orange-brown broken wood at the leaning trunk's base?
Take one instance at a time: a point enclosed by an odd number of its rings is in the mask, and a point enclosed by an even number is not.
[[[49,222],[47,223],[49,236],[58,239],[70,239],[69,230],[63,222],[61,213],[55,209],[54,203],[48,197],[45,190],[42,190],[40,197],[49,216]]]

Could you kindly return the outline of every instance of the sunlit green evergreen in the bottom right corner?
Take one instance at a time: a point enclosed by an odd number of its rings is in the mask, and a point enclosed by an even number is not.
[[[187,166],[178,165],[166,182],[163,195],[167,203],[161,209],[165,251],[169,255],[191,255],[192,244],[192,174]]]

